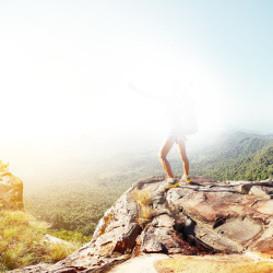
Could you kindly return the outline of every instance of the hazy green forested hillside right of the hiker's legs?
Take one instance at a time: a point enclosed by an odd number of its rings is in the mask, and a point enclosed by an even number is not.
[[[195,153],[191,169],[222,181],[273,178],[273,136],[234,133]]]

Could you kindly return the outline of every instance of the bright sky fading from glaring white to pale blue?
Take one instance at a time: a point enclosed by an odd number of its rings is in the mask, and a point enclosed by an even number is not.
[[[193,82],[201,127],[272,132],[272,12],[271,0],[1,0],[0,140],[161,130],[164,106],[127,86],[174,80]]]

